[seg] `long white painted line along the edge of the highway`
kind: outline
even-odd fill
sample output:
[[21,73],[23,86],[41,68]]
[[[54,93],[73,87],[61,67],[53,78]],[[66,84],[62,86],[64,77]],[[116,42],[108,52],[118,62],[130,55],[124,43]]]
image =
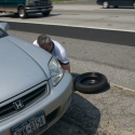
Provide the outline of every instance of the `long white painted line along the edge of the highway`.
[[[3,22],[14,22],[9,19],[2,19]],[[75,28],[92,28],[92,29],[100,29],[100,30],[112,30],[112,31],[126,31],[126,32],[135,32],[135,30],[124,30],[124,29],[114,29],[114,28],[100,28],[100,27],[89,27],[89,26],[76,26],[76,25],[64,25],[64,24],[50,24],[50,23],[37,23],[37,22],[22,22],[16,21],[14,23],[28,23],[28,24],[40,24],[40,25],[52,25],[52,26],[67,26],[67,27],[75,27]]]

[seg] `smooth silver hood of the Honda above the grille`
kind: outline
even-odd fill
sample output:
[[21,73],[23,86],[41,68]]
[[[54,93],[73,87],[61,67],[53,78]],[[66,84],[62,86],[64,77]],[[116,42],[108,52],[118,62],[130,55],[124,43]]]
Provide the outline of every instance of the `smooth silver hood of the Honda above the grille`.
[[51,57],[45,51],[17,38],[0,39],[0,103],[48,80]]

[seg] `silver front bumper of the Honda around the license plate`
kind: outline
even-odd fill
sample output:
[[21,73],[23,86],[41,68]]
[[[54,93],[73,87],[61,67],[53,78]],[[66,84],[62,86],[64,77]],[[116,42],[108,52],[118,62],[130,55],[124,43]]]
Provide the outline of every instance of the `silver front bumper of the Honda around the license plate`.
[[[65,72],[60,82],[51,90],[51,93],[46,98],[42,98],[40,102],[35,103],[32,106],[26,108],[16,116],[2,121],[0,124],[0,135],[12,135],[11,129],[14,125],[22,123],[31,116],[35,116],[37,112],[43,110],[48,127],[40,131],[41,134],[41,132],[48,130],[64,114],[70,105],[71,94],[72,77],[68,72]],[[54,114],[54,112],[55,116],[52,117],[53,119],[49,120],[49,116]]]

